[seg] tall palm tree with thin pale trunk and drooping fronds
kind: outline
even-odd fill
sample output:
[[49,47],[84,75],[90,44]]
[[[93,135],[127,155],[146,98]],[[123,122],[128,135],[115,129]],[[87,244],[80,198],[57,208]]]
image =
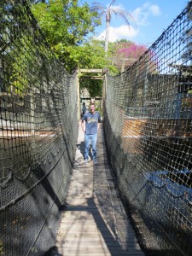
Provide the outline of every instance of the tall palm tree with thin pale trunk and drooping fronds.
[[125,23],[130,26],[130,20],[134,20],[131,14],[127,13],[123,9],[119,9],[113,6],[116,0],[113,0],[108,7],[102,5],[102,3],[93,3],[92,10],[98,12],[101,18],[104,16],[106,20],[106,34],[105,34],[105,53],[108,52],[108,41],[109,41],[109,26],[112,19],[112,15],[118,15],[120,18],[125,20]]

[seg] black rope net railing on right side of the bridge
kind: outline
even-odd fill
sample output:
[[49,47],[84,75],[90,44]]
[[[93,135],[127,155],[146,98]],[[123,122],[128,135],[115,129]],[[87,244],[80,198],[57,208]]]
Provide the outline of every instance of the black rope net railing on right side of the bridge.
[[105,79],[104,130],[147,255],[192,255],[191,2],[132,67]]

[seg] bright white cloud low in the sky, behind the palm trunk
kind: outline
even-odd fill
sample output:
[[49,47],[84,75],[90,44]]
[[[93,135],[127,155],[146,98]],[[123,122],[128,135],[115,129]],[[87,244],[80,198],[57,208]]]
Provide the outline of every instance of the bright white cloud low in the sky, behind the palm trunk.
[[[132,38],[137,37],[139,33],[138,29],[134,29],[132,26],[119,26],[119,27],[109,27],[109,41],[115,42],[119,39],[127,39],[131,40]],[[105,39],[105,31],[101,32],[101,34],[97,37],[97,39],[104,40]]]

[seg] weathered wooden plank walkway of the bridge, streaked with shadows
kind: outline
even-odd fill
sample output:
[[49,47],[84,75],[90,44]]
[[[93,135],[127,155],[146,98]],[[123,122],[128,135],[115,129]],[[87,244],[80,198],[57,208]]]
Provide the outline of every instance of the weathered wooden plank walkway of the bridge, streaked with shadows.
[[102,129],[98,164],[84,164],[84,133],[79,138],[73,176],[56,239],[55,256],[143,256],[113,183]]

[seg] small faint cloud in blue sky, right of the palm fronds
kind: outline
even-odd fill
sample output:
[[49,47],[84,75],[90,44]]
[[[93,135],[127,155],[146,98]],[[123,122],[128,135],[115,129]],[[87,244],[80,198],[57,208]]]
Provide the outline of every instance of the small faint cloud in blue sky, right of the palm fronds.
[[152,16],[159,16],[160,15],[160,8],[156,4],[151,3],[144,3],[142,7],[138,7],[135,9],[131,14],[137,23],[137,26],[147,26],[148,17]]

